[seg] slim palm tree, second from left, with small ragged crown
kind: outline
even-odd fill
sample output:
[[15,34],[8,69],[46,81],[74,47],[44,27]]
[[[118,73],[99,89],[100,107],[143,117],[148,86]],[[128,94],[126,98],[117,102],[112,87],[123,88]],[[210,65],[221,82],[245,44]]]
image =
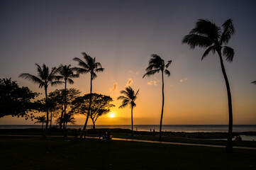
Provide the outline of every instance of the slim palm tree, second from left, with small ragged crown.
[[[66,116],[66,109],[67,109],[67,82],[69,84],[74,84],[74,81],[72,80],[72,78],[79,77],[79,74],[74,74],[73,71],[74,71],[74,68],[71,67],[71,64],[69,64],[68,66],[60,64],[60,67],[59,67],[60,77],[61,77],[61,79],[64,79],[64,83],[65,83],[64,117]],[[61,118],[63,118],[63,115],[61,116]],[[62,119],[60,119],[60,124],[62,124]],[[65,137],[67,137],[66,132],[65,132],[65,123],[63,123],[63,129],[64,129]]]

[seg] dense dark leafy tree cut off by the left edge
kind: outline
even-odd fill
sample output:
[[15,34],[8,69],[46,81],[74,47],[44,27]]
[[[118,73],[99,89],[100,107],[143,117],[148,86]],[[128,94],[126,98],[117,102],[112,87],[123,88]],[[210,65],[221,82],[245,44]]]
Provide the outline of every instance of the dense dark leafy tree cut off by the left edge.
[[[21,116],[33,119],[33,113],[28,114],[35,108],[31,102],[38,93],[33,93],[28,87],[19,87],[16,81],[0,79],[0,118],[6,115]],[[15,107],[13,107],[15,106]]]

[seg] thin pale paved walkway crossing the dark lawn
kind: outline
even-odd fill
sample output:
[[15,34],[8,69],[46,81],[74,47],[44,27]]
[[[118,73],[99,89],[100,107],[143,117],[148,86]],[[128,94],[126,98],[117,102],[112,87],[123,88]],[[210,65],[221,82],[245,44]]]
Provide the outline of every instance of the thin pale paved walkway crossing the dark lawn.
[[[0,135],[0,136],[13,136],[13,137],[41,137],[41,135]],[[48,137],[63,137],[63,136],[48,136]],[[74,137],[74,136],[68,136]],[[98,139],[99,137],[87,137],[89,139]],[[154,140],[133,140],[133,139],[123,139],[123,138],[115,138],[112,140],[119,141],[128,141],[128,142],[145,142],[145,143],[157,143],[157,144],[168,144],[168,145],[186,145],[186,146],[196,146],[196,147],[221,147],[225,148],[223,145],[207,145],[207,144],[192,144],[192,143],[181,143],[181,142],[163,142],[163,141],[154,141]],[[252,149],[256,150],[256,147],[233,147],[234,149]]]

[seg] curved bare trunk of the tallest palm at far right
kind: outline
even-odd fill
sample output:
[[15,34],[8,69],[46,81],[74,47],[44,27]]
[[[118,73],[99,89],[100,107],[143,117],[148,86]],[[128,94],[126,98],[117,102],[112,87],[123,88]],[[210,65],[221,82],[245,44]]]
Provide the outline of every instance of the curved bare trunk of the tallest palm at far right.
[[221,55],[221,51],[220,50],[218,50],[218,56],[220,57],[221,70],[222,70],[223,77],[224,77],[225,82],[226,82],[226,88],[227,88],[227,93],[228,93],[228,115],[229,115],[229,121],[228,121],[228,142],[227,142],[227,145],[226,145],[226,150],[227,151],[232,151],[232,149],[233,149],[233,147],[232,147],[233,111],[232,111],[231,92],[230,92],[230,86],[229,86],[229,82],[228,82],[228,77],[227,77],[226,70],[225,70],[225,67],[224,67],[224,64],[223,64],[223,59],[222,59],[222,55]]

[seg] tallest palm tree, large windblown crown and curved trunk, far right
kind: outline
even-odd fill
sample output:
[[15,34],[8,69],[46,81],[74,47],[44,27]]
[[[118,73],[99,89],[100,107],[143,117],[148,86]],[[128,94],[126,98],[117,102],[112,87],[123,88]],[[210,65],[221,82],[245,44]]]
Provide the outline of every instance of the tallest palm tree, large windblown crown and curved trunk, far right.
[[234,50],[231,47],[226,46],[228,41],[231,38],[231,35],[235,34],[235,28],[233,26],[232,19],[228,19],[221,27],[216,26],[215,23],[208,21],[206,19],[199,19],[196,22],[195,28],[193,28],[189,35],[184,36],[182,43],[188,44],[191,49],[199,46],[206,51],[204,52],[201,60],[208,55],[209,52],[218,53],[218,57],[221,62],[221,70],[223,77],[226,82],[226,89],[228,93],[228,115],[229,115],[229,124],[228,124],[228,142],[226,149],[228,151],[232,150],[232,128],[233,128],[233,112],[232,112],[232,101],[231,101],[231,92],[228,82],[228,77],[226,70],[223,64],[223,57],[226,57],[227,62],[232,62],[234,57]]

